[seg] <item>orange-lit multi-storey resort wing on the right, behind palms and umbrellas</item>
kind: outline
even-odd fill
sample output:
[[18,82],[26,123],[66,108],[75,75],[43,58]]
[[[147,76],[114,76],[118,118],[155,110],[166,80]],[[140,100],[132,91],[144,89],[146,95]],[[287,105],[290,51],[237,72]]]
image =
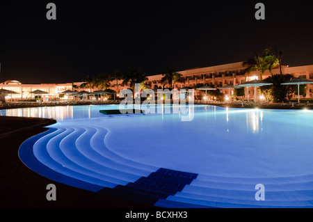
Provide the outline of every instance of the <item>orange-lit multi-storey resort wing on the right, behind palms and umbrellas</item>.
[[[183,82],[177,82],[174,84],[174,88],[183,88],[189,87],[194,88],[197,84],[204,84],[208,86],[214,86],[215,88],[225,86],[227,84],[231,85],[239,85],[243,84],[245,81],[250,81],[252,79],[261,79],[261,73],[258,71],[244,73],[242,62],[238,63],[229,63],[224,65],[215,65],[205,68],[193,68],[188,70],[180,71],[182,74]],[[279,74],[280,69],[274,68],[271,72],[264,72],[262,74],[262,79],[266,79],[271,76],[271,74]],[[313,65],[303,65],[296,67],[289,67],[288,65],[282,65],[282,74],[292,74],[294,77],[302,77],[303,79],[313,80]],[[150,81],[152,88],[163,88],[163,86],[168,87],[161,83],[163,75],[156,74],[152,76],[148,76],[147,78]],[[129,86],[122,86],[122,81],[118,82],[118,86],[114,86],[112,82],[111,89],[120,91],[124,88],[129,88]],[[234,89],[220,89],[223,90],[223,93],[228,94],[228,90],[230,90],[230,94],[232,95]],[[305,86],[305,97],[312,98],[313,86],[311,84],[307,84]],[[200,90],[195,90],[195,96],[200,98],[203,92]],[[253,98],[254,97],[254,89],[252,87],[245,88],[245,98]],[[296,97],[296,95],[294,95]],[[302,96],[301,96],[302,97]]]

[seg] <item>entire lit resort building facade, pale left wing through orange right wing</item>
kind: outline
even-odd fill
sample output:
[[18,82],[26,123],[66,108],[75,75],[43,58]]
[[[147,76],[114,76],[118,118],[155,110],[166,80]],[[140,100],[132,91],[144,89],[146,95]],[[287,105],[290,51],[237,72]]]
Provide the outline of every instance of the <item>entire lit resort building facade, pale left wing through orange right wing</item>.
[[[194,88],[197,84],[204,84],[208,86],[214,86],[215,88],[225,86],[227,84],[232,84],[234,86],[243,84],[245,81],[250,81],[252,79],[261,79],[260,72],[243,72],[245,68],[242,65],[242,62],[238,63],[229,63],[224,65],[215,65],[205,68],[193,68],[188,70],[179,71],[182,74],[182,82],[176,82],[174,84],[174,88],[178,89],[183,87]],[[280,69],[274,68],[271,72],[264,72],[262,74],[262,79],[266,79],[271,76],[271,74],[279,74]],[[294,77],[302,77],[304,79],[310,79],[313,81],[313,65],[303,65],[296,67],[289,67],[288,65],[282,65],[282,74],[292,74]],[[149,79],[149,84],[151,88],[165,88],[168,87],[166,84],[161,82],[163,75],[156,74],[147,76]],[[7,95],[8,100],[10,98],[12,100],[17,99],[29,99],[34,95],[31,93],[33,90],[43,90],[47,92],[45,97],[56,97],[60,93],[65,90],[74,90],[81,91],[86,90],[88,92],[93,92],[93,90],[99,90],[99,88],[83,88],[83,82],[74,82],[74,83],[66,83],[66,84],[22,84],[19,81],[9,80],[0,84],[0,88],[6,90],[12,90],[17,94]],[[115,90],[117,93],[120,90],[125,88],[129,88],[129,84],[122,84],[122,80],[111,81],[111,90]],[[232,95],[234,89],[220,89],[223,90],[225,95]],[[229,91],[230,90],[230,91]],[[244,98],[253,98],[254,97],[254,89],[252,87],[245,88],[245,96]],[[203,91],[195,90],[196,99],[200,99]],[[259,96],[259,95],[257,95]],[[305,86],[305,93],[301,97],[312,98],[313,96],[313,86],[312,84],[307,84]],[[65,99],[67,95],[65,95]],[[294,95],[296,97],[296,95]],[[45,100],[44,100],[45,101]]]

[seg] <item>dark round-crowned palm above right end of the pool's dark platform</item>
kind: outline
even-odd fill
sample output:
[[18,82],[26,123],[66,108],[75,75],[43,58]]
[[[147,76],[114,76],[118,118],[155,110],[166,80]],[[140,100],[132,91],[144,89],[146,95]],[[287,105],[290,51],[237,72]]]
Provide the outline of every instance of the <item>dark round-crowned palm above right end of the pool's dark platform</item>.
[[133,88],[133,92],[135,92],[135,84],[141,84],[149,80],[141,68],[133,68],[131,66],[122,74],[122,79],[124,79],[122,84],[129,83],[130,87]]

